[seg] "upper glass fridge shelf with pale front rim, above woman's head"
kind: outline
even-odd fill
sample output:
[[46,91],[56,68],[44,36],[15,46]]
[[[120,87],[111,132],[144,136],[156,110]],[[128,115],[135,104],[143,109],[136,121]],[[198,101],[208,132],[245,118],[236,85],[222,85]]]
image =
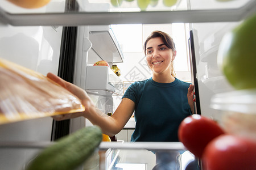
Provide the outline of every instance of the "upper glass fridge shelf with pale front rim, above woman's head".
[[52,0],[38,9],[24,9],[6,0],[1,0],[0,22],[11,25],[109,25],[109,24],[160,24],[160,23],[203,23],[237,22],[256,12],[254,0],[218,2],[211,0],[180,0],[166,7],[148,5],[142,11],[137,0],[123,3],[119,7],[110,0],[77,0],[78,11],[65,12],[64,0]]

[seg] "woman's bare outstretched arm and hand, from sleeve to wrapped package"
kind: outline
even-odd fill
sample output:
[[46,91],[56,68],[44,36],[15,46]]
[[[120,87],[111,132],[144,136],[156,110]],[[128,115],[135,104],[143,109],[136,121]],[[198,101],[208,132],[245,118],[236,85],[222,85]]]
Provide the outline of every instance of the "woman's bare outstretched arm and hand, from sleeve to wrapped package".
[[76,86],[75,84],[66,82],[59,76],[56,76],[52,73],[48,73],[47,77],[60,84],[60,86],[66,88],[73,95],[79,97],[82,105],[85,107],[84,112],[54,116],[53,118],[55,120],[65,120],[69,118],[84,116],[85,118],[88,118],[92,124],[100,126],[102,133],[113,136],[122,130],[123,126],[125,126],[133,114],[135,103],[130,99],[123,98],[118,108],[115,110],[113,116],[107,116],[95,107],[88,94],[80,87]]

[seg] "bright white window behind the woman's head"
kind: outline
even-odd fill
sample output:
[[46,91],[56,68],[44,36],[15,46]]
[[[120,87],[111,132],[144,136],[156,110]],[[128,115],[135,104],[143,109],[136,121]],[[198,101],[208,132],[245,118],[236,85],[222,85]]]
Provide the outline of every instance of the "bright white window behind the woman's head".
[[147,36],[155,30],[164,31],[174,39],[177,50],[177,56],[174,61],[177,78],[191,82],[187,52],[187,24],[120,24],[111,25],[111,28],[125,57],[123,63],[117,63],[122,73],[120,78],[123,82],[144,80],[152,76],[144,57],[143,43]]

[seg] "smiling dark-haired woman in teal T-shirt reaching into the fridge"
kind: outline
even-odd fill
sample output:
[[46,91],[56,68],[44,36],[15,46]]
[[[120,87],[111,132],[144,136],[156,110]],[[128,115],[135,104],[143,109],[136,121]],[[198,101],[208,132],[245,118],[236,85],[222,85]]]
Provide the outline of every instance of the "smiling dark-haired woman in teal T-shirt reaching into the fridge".
[[112,116],[102,116],[104,113],[81,88],[57,76],[49,78],[79,96],[86,108],[81,115],[100,126],[106,135],[119,133],[134,113],[136,124],[132,142],[179,142],[177,129],[180,122],[194,110],[193,86],[172,74],[176,50],[170,35],[162,31],[152,32],[144,49],[144,54],[152,53],[152,57],[146,57],[152,77],[131,84]]

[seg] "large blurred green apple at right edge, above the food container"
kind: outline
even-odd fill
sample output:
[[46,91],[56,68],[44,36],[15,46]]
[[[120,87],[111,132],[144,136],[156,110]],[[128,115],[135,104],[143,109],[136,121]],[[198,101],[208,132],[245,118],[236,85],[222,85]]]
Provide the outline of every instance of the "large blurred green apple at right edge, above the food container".
[[255,14],[226,33],[218,49],[217,62],[234,88],[256,88]]

